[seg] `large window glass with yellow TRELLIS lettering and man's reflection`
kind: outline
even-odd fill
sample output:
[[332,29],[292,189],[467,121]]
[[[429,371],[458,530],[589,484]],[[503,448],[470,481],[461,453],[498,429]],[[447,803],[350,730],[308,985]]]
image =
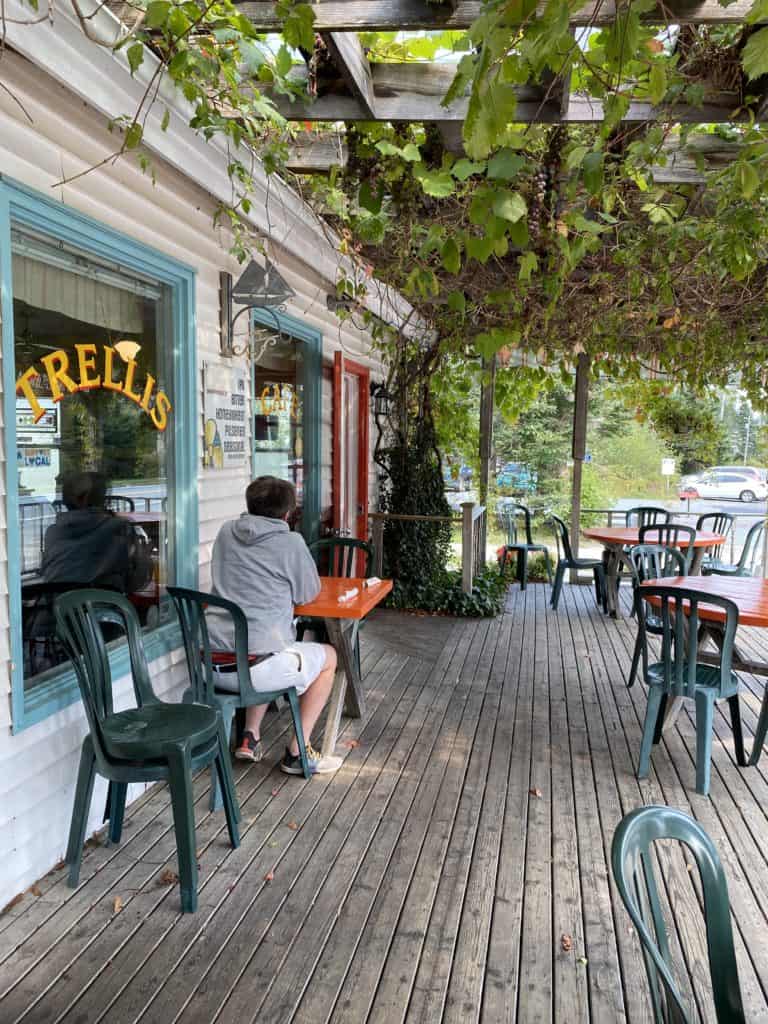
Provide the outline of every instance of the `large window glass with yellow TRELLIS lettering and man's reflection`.
[[55,596],[128,596],[166,617],[174,417],[170,290],[11,228],[24,687],[65,654]]

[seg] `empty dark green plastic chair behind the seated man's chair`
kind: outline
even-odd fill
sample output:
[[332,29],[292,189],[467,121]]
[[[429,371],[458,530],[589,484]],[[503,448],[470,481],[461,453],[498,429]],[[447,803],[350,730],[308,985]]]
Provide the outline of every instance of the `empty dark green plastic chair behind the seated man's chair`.
[[[193,772],[213,765],[224,797],[232,847],[240,846],[240,810],[234,793],[221,714],[202,703],[166,703],[152,688],[138,615],[127,598],[103,590],[76,590],[56,598],[58,635],[72,658],[89,733],[80,755],[75,806],[66,862],[75,888],[88,820],[93,782],[98,772],[110,780],[110,840],[119,843],[129,782],[168,782],[176,830],[181,910],[198,907],[198,863],[195,846]],[[122,622],[128,640],[136,708],[116,712],[112,671],[101,621]]]

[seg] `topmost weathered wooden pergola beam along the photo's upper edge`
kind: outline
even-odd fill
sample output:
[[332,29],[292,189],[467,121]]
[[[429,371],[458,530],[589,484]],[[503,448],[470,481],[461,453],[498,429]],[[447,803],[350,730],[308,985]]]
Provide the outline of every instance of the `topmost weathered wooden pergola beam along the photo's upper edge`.
[[[262,32],[280,31],[274,4],[245,0],[238,4]],[[543,7],[544,4],[542,3]],[[751,0],[735,0],[723,7],[719,0],[689,3],[670,0],[641,14],[651,25],[733,25],[744,20]],[[319,0],[312,5],[316,32],[397,32],[418,29],[466,29],[481,12],[480,0],[435,4],[428,0]],[[570,15],[573,27],[607,25],[615,20],[615,0],[585,4]]]

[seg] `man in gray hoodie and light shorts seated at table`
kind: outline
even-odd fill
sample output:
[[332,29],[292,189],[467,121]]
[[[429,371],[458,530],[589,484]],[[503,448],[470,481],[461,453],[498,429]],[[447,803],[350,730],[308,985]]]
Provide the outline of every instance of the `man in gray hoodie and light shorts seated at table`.
[[[259,476],[246,488],[246,507],[248,511],[239,519],[223,524],[213,545],[211,591],[239,604],[245,612],[248,649],[258,657],[251,667],[254,689],[295,686],[310,769],[336,771],[341,759],[322,757],[309,741],[331,693],[336,651],[329,644],[296,640],[294,605],[311,601],[319,593],[317,569],[304,538],[288,525],[296,508],[296,490],[287,480]],[[206,620],[213,649],[231,651],[231,617],[209,608]],[[234,674],[219,670],[216,686],[237,692]],[[265,712],[266,705],[246,709],[245,731],[236,758],[261,760],[260,728]],[[298,751],[294,736],[281,762],[281,769],[289,775],[301,774]]]

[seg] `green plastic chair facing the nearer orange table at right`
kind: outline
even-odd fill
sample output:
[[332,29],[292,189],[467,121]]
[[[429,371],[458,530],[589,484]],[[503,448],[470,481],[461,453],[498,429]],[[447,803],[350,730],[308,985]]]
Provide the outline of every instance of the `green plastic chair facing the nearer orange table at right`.
[[[662,630],[662,660],[652,665],[648,664],[646,627],[646,602],[651,597],[660,600],[660,610],[656,611],[656,614]],[[688,605],[685,610],[683,601]],[[725,614],[718,666],[700,665],[695,660],[699,603],[721,608]],[[738,676],[731,669],[738,608],[733,601],[706,591],[665,587],[659,584],[652,587],[638,587],[635,591],[635,609],[643,680],[648,687],[648,706],[640,744],[638,778],[648,776],[651,744],[657,743],[662,738],[662,724],[668,699],[678,696],[691,697],[696,705],[696,793],[706,797],[710,792],[712,723],[716,700],[728,701],[736,761],[741,766],[746,764],[738,705]],[[693,657],[689,657],[686,650],[687,636],[691,637]]]

